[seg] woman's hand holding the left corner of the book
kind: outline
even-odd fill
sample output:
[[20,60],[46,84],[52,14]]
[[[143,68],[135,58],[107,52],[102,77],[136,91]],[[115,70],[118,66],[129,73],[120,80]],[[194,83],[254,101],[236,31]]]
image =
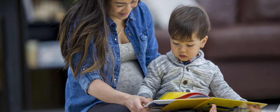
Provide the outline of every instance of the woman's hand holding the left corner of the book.
[[125,100],[125,106],[131,112],[150,112],[151,108],[144,108],[143,105],[150,103],[148,99],[143,96],[128,95]]

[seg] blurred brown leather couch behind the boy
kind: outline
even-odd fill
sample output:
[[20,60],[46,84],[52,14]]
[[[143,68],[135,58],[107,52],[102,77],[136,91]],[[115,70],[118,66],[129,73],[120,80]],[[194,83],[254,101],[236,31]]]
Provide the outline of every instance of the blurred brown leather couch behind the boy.
[[[249,101],[280,99],[280,1],[197,0],[210,18],[202,49],[225,81]],[[158,51],[171,50],[167,30],[155,28]],[[211,96],[211,94],[210,94]],[[269,103],[269,102],[263,102]]]

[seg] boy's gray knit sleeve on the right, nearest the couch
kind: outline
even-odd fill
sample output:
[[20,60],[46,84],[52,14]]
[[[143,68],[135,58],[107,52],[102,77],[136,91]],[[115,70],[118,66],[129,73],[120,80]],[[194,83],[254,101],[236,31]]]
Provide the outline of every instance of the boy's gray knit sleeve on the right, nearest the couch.
[[216,97],[247,101],[246,99],[241,98],[232,88],[229,87],[227,82],[224,80],[220,69],[216,72],[216,74],[214,74],[209,87]]

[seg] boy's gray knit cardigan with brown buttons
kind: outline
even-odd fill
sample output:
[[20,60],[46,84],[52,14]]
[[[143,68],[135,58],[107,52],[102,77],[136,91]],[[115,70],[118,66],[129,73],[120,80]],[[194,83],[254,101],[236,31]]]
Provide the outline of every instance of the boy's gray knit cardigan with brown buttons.
[[186,66],[178,61],[172,51],[153,60],[137,95],[158,99],[168,91],[206,95],[212,91],[216,97],[247,101],[228,86],[218,66],[206,60],[201,50],[199,53],[200,57]]

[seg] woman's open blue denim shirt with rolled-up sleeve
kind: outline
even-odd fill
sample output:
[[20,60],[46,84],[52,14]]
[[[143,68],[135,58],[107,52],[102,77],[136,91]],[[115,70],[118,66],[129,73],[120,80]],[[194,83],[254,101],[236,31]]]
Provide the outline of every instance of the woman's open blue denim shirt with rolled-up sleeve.
[[[107,15],[108,16],[108,15]],[[125,19],[126,28],[125,33],[129,38],[134,51],[136,53],[138,62],[142,68],[144,75],[148,74],[147,66],[151,61],[160,56],[158,53],[158,43],[155,38],[154,24],[151,13],[143,2],[140,2],[136,8],[134,8],[129,14],[128,18]],[[118,34],[116,31],[116,23],[109,19],[108,23],[109,29],[111,29],[111,34],[109,35],[109,51],[113,52],[114,55],[114,77],[111,77],[109,69],[112,69],[112,65],[110,62],[105,63],[108,64],[108,67],[105,65],[105,72],[110,84],[114,89],[116,89],[118,84],[118,78],[120,73],[120,48],[118,44]],[[94,42],[89,46],[87,59],[83,66],[79,69],[78,74],[83,70],[89,68],[93,65],[94,61],[92,60],[92,54],[94,49]],[[79,60],[81,58],[80,53],[75,53],[73,56],[74,68],[78,65]],[[111,60],[111,57],[107,57],[107,59]],[[90,62],[90,63],[89,63]],[[106,71],[107,70],[107,71]],[[66,90],[65,90],[65,111],[88,111],[92,106],[103,103],[99,99],[95,98],[92,95],[87,94],[87,89],[89,84],[94,79],[101,79],[99,76],[99,70],[92,71],[89,73],[85,73],[82,76],[78,76],[77,79],[74,79],[73,73],[71,69],[68,69],[68,78],[66,81]],[[114,80],[116,84],[114,83]]]

